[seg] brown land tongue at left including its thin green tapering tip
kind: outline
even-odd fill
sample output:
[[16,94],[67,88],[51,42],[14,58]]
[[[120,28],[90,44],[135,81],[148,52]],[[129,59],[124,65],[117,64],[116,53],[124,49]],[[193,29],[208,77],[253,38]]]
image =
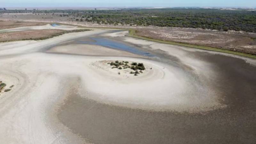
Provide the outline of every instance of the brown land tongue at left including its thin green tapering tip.
[[90,31],[90,29],[77,29],[77,30],[32,30],[32,31],[20,31],[9,32],[0,34],[0,42],[11,42],[20,40],[45,40],[55,36],[60,36],[68,33]]

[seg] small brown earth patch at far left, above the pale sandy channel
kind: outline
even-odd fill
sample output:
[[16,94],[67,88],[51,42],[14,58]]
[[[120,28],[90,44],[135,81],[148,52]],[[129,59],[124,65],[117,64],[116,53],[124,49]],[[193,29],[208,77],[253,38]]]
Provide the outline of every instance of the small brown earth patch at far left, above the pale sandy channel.
[[0,21],[0,29],[8,29],[15,27],[42,26],[44,22],[24,22],[24,21]]

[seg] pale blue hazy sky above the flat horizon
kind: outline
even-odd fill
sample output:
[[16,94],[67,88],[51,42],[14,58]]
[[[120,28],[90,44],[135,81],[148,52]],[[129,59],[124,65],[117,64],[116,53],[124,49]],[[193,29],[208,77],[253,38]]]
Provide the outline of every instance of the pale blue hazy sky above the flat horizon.
[[1,7],[256,7],[256,0],[0,0]]

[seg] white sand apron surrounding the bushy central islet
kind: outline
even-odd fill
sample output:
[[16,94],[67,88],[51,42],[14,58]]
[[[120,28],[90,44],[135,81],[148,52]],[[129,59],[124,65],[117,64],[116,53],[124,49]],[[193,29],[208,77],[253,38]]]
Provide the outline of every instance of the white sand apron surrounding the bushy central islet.
[[211,90],[197,87],[195,81],[194,86],[202,89],[194,93],[195,87],[189,84],[188,77],[175,67],[144,59],[117,60],[142,62],[147,68],[152,67],[152,70],[135,77],[127,73],[118,75],[116,70],[94,66],[92,70],[87,70],[94,76],[84,78],[84,87],[87,92],[97,94],[98,97],[90,94],[87,97],[110,104],[154,110],[200,111],[222,107],[217,95],[209,95]]

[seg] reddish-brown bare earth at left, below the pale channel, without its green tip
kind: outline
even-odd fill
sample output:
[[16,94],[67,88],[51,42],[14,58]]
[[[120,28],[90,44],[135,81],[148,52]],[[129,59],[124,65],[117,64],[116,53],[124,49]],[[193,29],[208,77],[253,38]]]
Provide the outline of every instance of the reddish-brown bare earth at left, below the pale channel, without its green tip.
[[10,32],[10,33],[0,33],[0,42],[17,41],[17,40],[29,40],[29,39],[44,39],[47,37],[52,37],[56,34],[62,33],[64,30],[31,30],[31,31],[20,31],[20,32]]

